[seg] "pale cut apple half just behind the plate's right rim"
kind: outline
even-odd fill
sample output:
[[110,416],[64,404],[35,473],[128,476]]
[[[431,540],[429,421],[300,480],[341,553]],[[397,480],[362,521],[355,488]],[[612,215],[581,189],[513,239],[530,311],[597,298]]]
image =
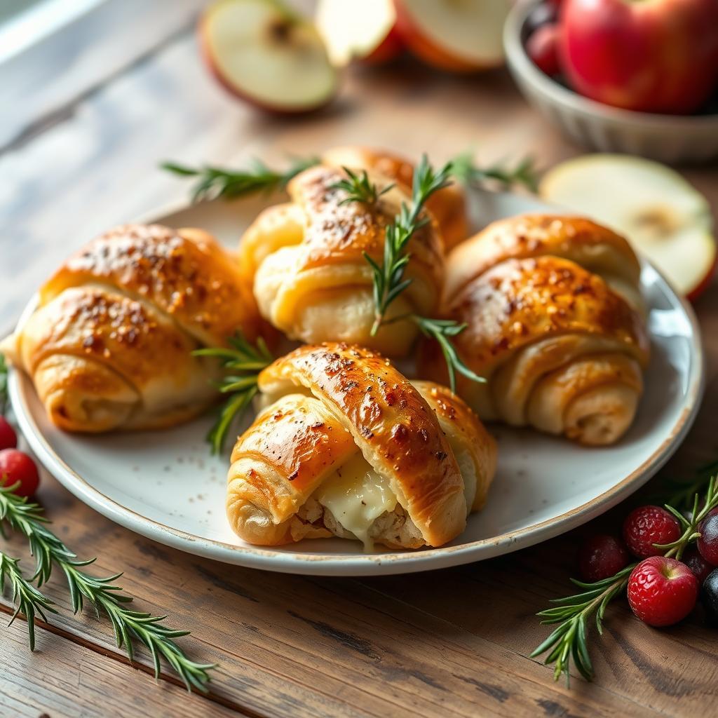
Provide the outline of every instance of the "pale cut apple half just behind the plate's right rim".
[[556,165],[539,192],[623,234],[691,301],[710,284],[717,253],[708,202],[663,164],[587,154]]

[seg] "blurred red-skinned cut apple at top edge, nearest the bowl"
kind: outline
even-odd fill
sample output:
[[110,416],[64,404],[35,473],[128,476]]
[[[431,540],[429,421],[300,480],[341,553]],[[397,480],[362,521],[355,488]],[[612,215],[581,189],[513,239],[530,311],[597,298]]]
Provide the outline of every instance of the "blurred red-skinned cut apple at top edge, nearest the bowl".
[[509,0],[394,0],[394,5],[401,39],[427,64],[460,73],[503,64]]

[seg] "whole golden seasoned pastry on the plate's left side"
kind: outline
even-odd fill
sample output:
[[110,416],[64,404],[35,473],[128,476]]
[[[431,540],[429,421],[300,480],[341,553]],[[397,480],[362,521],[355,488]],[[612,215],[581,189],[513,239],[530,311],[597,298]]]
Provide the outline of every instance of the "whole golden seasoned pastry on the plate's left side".
[[236,261],[198,229],[124,225],[85,246],[40,289],[0,350],[34,382],[61,429],[149,429],[217,397],[216,360],[193,357],[258,332]]

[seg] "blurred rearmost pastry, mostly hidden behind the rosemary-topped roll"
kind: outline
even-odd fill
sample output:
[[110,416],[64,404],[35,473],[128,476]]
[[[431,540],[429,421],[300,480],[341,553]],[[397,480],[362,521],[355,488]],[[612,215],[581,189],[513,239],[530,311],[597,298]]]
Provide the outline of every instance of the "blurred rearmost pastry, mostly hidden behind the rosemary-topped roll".
[[[322,154],[322,162],[335,167],[366,169],[389,177],[398,182],[411,194],[414,180],[414,164],[404,157],[385,150],[369,149],[355,145],[333,147]],[[444,239],[444,247],[449,250],[469,236],[469,219],[466,212],[466,197],[457,182],[429,197],[426,208],[437,220]]]

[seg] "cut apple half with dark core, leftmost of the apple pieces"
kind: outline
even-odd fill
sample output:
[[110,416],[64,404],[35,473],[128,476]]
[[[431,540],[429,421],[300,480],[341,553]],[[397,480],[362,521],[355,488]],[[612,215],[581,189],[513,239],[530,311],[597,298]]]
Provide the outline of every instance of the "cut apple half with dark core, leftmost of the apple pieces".
[[307,112],[337,91],[337,70],[314,25],[277,0],[219,0],[199,32],[225,88],[265,110]]

